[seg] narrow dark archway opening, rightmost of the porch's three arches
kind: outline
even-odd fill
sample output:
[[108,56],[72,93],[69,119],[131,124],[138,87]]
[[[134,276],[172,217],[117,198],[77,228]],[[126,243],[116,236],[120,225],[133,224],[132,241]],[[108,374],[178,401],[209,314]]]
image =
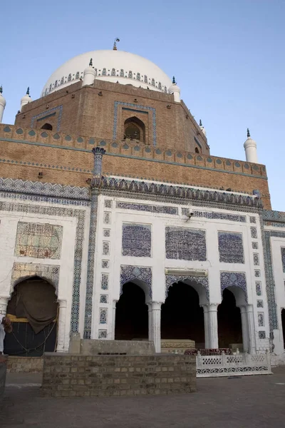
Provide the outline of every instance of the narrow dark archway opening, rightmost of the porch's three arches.
[[242,344],[242,318],[236,304],[234,292],[226,288],[222,294],[222,303],[218,307],[219,347],[230,344]]

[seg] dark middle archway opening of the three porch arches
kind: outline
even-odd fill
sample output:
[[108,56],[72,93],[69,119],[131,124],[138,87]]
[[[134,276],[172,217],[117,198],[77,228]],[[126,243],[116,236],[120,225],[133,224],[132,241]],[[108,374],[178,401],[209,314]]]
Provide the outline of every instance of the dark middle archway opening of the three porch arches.
[[176,282],[169,288],[161,308],[161,337],[195,340],[196,347],[204,347],[204,312],[191,285]]

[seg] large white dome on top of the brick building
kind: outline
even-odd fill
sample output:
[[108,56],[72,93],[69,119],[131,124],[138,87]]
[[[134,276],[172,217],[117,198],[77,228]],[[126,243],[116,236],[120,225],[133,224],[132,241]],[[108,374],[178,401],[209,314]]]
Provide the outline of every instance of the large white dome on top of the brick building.
[[41,96],[65,88],[80,78],[93,59],[98,80],[105,80],[123,85],[141,86],[152,91],[168,92],[171,79],[148,59],[124,51],[90,51],[75,56],[60,66],[48,79]]

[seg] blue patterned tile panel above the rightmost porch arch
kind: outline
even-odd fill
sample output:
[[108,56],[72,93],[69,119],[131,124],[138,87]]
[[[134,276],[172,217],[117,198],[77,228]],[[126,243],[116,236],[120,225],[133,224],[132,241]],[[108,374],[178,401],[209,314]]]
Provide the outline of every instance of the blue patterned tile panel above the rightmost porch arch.
[[221,263],[244,263],[242,233],[218,232],[218,240]]

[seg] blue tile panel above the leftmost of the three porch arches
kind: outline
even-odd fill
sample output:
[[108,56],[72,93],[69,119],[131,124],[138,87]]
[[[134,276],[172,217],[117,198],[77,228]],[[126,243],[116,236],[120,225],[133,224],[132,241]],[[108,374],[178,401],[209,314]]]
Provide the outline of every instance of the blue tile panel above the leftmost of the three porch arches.
[[151,257],[151,225],[123,223],[122,255]]

